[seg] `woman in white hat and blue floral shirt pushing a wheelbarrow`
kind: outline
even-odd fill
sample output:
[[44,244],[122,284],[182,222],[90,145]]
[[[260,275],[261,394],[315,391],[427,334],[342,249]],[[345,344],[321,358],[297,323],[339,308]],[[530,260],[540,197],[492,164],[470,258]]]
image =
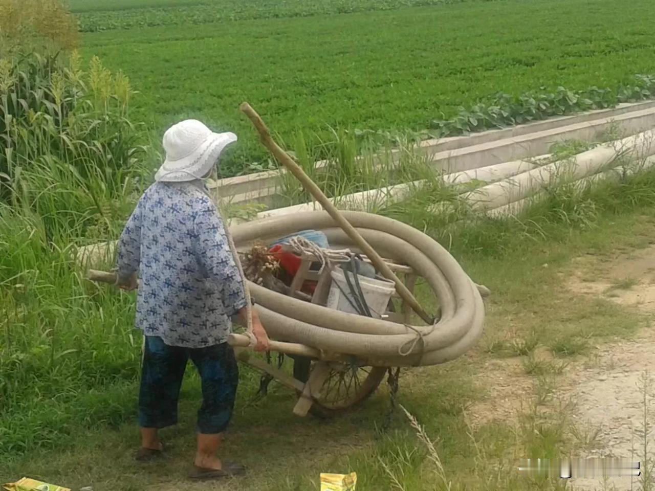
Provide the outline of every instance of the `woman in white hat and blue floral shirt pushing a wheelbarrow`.
[[[217,134],[196,120],[164,134],[166,160],[122,232],[118,285],[136,288],[136,326],[145,348],[139,392],[141,448],[138,460],[160,456],[159,428],[176,424],[178,397],[189,358],[202,380],[197,450],[191,477],[241,473],[241,465],[216,456],[231,420],[238,369],[227,344],[231,317],[246,319],[244,284],[234,263],[223,221],[208,196],[209,177],[233,133]],[[252,310],[257,350],[269,339]]]

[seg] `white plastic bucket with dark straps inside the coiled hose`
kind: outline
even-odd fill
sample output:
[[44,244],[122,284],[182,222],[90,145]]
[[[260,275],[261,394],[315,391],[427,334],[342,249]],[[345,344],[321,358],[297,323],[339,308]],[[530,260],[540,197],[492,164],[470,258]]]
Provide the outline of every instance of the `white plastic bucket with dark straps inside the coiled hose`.
[[[359,312],[357,312],[357,310],[355,310],[355,308],[350,304],[350,302],[352,302],[354,305],[357,305],[352,293],[350,292],[350,287],[348,287],[344,273],[345,272],[341,268],[337,268],[331,272],[332,284],[329,289],[329,295],[327,296],[326,306],[335,310],[341,310],[341,312],[359,314]],[[347,274],[350,284],[354,286],[354,275],[352,272],[348,272]],[[360,287],[362,288],[366,304],[371,311],[371,316],[377,319],[381,318],[389,304],[391,294],[396,291],[396,285],[394,282],[388,280],[374,280],[373,278],[366,278],[359,274],[357,275],[357,278],[360,282]],[[337,284],[341,286],[341,289],[339,289]],[[343,290],[343,292],[341,290]],[[344,293],[347,295],[347,298]],[[350,302],[348,299],[350,299]]]

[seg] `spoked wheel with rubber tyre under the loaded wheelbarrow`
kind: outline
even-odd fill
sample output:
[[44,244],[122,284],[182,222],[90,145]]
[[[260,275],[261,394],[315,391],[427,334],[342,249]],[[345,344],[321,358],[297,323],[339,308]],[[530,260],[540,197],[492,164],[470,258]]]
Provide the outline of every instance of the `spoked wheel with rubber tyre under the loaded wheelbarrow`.
[[[309,358],[295,358],[293,378],[307,382],[311,367],[312,361]],[[371,397],[384,380],[386,370],[385,367],[346,367],[343,371],[333,369],[324,384],[327,393],[318,401],[314,401],[309,412],[318,418],[330,418],[356,407]],[[348,377],[346,371],[350,371],[352,376]],[[348,378],[347,382],[345,378]],[[341,394],[343,397],[339,397]]]

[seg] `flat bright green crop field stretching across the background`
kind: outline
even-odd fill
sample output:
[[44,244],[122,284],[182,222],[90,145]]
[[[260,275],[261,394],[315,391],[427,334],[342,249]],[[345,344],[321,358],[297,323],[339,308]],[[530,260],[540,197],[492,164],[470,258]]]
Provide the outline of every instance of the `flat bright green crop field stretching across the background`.
[[[105,13],[90,15],[102,23]],[[237,111],[242,101],[288,139],[300,129],[329,137],[329,127],[424,130],[498,91],[616,92],[655,72],[652,18],[652,0],[473,1],[202,25],[170,12],[162,24],[172,25],[87,33],[83,51],[126,72],[140,91],[132,115],[157,136],[186,117],[234,130],[240,143],[225,168],[234,173],[265,156]]]

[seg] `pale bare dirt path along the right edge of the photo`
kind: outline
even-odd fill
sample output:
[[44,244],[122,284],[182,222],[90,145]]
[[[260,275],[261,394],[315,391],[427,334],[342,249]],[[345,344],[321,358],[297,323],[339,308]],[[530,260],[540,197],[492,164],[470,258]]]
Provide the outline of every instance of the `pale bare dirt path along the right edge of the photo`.
[[[608,263],[595,264],[588,258],[578,263],[580,273],[569,282],[574,293],[604,297],[637,308],[646,316],[655,314],[655,247],[621,255]],[[596,278],[589,278],[590,272]],[[590,367],[567,374],[569,391],[577,402],[576,420],[593,436],[590,456],[643,462],[639,430],[645,422],[655,424],[652,382],[646,384],[645,393],[643,377],[654,368],[655,333],[646,324],[635,340],[602,346]],[[645,409],[650,414],[645,415]],[[655,450],[655,435],[650,435],[648,443],[650,452]],[[637,487],[630,477],[612,477],[605,483],[574,479],[571,484],[584,490]]]

